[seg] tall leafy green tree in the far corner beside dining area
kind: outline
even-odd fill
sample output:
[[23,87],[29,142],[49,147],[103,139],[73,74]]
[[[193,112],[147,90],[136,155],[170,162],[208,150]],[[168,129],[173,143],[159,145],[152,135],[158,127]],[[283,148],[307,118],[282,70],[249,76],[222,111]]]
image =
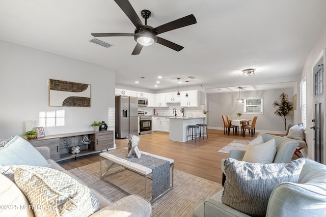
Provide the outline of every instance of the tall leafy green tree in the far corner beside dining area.
[[289,101],[289,97],[285,92],[280,94],[279,100],[275,100],[273,103],[274,108],[277,108],[274,114],[280,116],[284,122],[286,131],[286,117],[293,110],[293,103]]

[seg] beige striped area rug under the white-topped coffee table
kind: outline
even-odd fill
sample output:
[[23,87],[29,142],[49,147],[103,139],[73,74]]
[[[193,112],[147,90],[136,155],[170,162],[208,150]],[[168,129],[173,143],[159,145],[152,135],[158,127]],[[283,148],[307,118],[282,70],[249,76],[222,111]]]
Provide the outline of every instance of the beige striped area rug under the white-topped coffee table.
[[[95,189],[112,202],[126,196],[126,194],[120,190],[100,179],[99,162],[69,171],[80,180],[84,181],[90,188]],[[125,171],[120,172],[117,176],[117,179],[120,179],[116,180],[119,182],[119,187],[128,192],[134,192],[133,194],[139,191],[139,195],[143,196],[144,177],[131,171],[126,170],[128,175],[123,174],[124,172]],[[191,216],[193,209],[199,203],[211,197],[222,188],[222,185],[219,183],[179,170],[174,170],[173,180],[173,189],[166,195],[152,202],[152,216]],[[112,180],[110,179],[110,181]]]

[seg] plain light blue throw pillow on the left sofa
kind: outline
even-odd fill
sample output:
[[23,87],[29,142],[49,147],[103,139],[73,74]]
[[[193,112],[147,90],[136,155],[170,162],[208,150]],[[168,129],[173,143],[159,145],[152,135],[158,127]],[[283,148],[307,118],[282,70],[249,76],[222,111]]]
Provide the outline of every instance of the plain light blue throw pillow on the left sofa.
[[42,154],[20,136],[15,136],[0,148],[0,165],[50,166]]

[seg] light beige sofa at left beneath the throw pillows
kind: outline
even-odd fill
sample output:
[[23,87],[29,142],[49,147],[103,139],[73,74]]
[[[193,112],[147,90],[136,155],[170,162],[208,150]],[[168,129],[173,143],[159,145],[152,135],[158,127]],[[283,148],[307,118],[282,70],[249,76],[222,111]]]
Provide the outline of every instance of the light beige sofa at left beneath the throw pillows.
[[[64,172],[73,177],[80,183],[79,180],[69,171],[65,170],[55,161],[50,159],[50,149],[48,147],[36,147],[41,155],[46,159],[46,162],[50,165],[50,168]],[[1,148],[0,148],[1,151]],[[23,150],[21,150],[23,151]],[[1,166],[1,165],[0,165]],[[1,168],[1,167],[0,167]],[[0,204],[4,205],[0,209],[0,216],[34,216],[34,212],[27,197],[20,191],[20,189],[5,175],[0,174]],[[83,183],[86,185],[85,183]],[[96,197],[100,209],[91,216],[151,216],[152,206],[142,197],[137,195],[126,196],[116,202],[111,202],[94,189],[90,189],[92,194]],[[9,197],[9,198],[8,198]],[[12,197],[12,198],[11,198]],[[21,205],[25,208],[22,208]]]

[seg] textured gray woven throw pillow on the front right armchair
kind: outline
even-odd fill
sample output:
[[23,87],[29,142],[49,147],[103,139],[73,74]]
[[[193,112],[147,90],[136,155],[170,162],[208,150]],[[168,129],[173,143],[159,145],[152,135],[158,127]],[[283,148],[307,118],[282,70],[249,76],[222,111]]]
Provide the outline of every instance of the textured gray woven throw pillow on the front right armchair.
[[251,216],[265,216],[269,196],[282,182],[298,182],[305,159],[287,164],[258,164],[228,158],[222,202]]

